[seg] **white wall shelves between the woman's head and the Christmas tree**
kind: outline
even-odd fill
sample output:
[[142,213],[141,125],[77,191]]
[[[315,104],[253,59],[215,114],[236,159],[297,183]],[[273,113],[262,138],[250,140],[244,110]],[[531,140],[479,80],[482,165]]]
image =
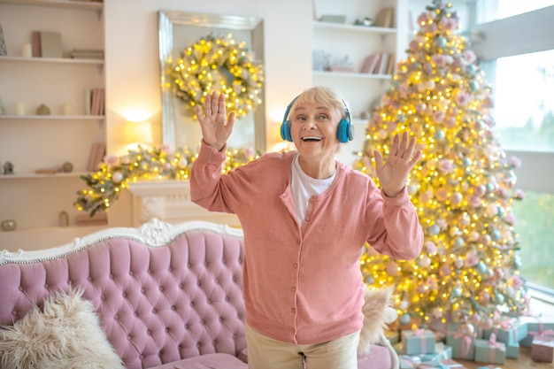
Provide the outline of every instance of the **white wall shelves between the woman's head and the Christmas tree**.
[[[336,88],[350,104],[350,115],[356,135],[339,155],[342,161],[350,165],[355,160],[353,151],[362,149],[365,139],[367,118],[375,104],[389,88],[391,74],[361,73],[365,58],[376,53],[395,56],[396,62],[404,56],[408,28],[407,0],[352,0],[336,2],[334,0],[314,0],[314,13],[317,19],[312,27],[312,50],[322,50],[326,61],[336,64],[348,60],[351,72],[331,72],[314,70],[312,84],[327,85]],[[386,7],[392,7],[392,27],[358,26],[357,19],[375,19]],[[344,23],[324,22],[324,15],[340,15]],[[317,63],[314,63],[314,65]]]

